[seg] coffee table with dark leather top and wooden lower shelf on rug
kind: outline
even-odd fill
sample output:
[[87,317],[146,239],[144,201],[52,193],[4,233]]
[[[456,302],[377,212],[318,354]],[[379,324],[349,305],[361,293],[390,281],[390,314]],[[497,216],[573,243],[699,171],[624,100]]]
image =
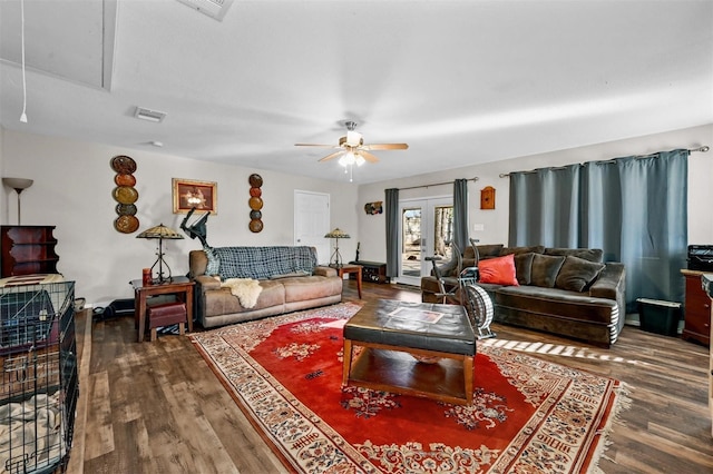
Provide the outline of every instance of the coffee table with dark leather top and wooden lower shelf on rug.
[[[352,364],[353,346],[363,350]],[[470,404],[475,355],[462,306],[382,299],[344,325],[342,385]]]

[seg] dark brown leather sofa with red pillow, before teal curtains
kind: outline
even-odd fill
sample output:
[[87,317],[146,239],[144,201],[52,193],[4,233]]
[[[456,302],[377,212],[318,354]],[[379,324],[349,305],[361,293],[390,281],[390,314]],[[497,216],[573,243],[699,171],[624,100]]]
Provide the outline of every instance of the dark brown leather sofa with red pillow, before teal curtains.
[[[544,330],[593,345],[609,347],[624,327],[625,269],[621,263],[602,264],[600,249],[569,249],[479,245],[480,261],[514,254],[518,285],[478,283],[495,307],[494,320]],[[476,264],[473,248],[462,255],[461,268]],[[458,260],[439,266],[447,290],[458,285]],[[596,271],[593,271],[596,270]],[[582,288],[592,274],[596,274]],[[549,274],[549,275],[548,275]],[[586,277],[584,275],[586,274]],[[585,279],[583,279],[583,277]],[[440,303],[434,276],[421,278],[421,300]]]

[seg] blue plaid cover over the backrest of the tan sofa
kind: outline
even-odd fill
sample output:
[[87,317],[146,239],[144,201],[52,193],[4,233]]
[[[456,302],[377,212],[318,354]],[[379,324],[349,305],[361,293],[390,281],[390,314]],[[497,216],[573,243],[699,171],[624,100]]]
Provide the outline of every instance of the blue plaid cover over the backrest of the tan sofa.
[[316,256],[306,246],[217,247],[221,278],[267,279],[272,275],[307,271],[316,265]]

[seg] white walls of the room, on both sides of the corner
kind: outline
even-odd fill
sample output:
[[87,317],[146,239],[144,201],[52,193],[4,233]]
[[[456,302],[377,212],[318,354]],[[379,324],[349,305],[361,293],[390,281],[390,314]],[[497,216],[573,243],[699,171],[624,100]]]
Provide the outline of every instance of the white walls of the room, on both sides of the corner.
[[[343,181],[324,181],[208,164],[153,151],[133,151],[117,147],[0,129],[0,170],[2,176],[35,179],[22,194],[22,224],[55,225],[59,241],[59,270],[77,282],[77,296],[88,304],[106,304],[131,297],[130,279],[140,278],[141,268],[155,260],[155,240],[137,239],[135,234],[114,229],[116,201],[111,197],[115,172],[109,160],[128,155],[138,165],[135,172],[139,192],[136,203],[139,231],[159,223],[178,229],[183,215],[173,214],[172,178],[216,181],[218,215],[208,218],[208,243],[224,245],[292,245],[294,189],[326,192],[331,199],[331,227],[340,227],[352,238],[340,241],[345,260],[351,260],[356,243],[360,258],[385,261],[384,215],[367,215],[367,203],[384,200],[384,189],[479,177],[468,187],[470,235],[481,243],[507,243],[508,179],[499,174],[559,166],[628,155],[642,155],[674,148],[713,146],[713,125],[592,145],[570,150],[508,159],[499,162],[445,170],[424,176],[364,185],[359,188]],[[507,144],[504,145],[507,147]],[[477,146],[465,149],[477,154]],[[434,157],[436,159],[437,157]],[[264,230],[248,230],[247,177],[263,177]],[[688,159],[688,239],[691,244],[713,244],[713,151],[692,154]],[[496,188],[496,209],[480,209],[480,190]],[[402,198],[452,194],[452,184],[401,191]],[[2,187],[0,223],[17,224],[17,196]],[[475,231],[473,224],[485,230]],[[166,241],[166,260],[174,275],[187,271],[187,253],[199,248],[197,240]]]

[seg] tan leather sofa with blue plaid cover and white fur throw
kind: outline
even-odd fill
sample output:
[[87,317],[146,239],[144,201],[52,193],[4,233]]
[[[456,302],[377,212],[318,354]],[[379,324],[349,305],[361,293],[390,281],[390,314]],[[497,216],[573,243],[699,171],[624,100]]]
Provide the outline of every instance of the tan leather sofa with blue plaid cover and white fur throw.
[[[300,251],[299,258],[295,251]],[[188,276],[196,284],[194,313],[203,327],[275,316],[342,300],[342,279],[334,268],[316,265],[316,250],[313,247],[192,250],[188,263]],[[229,287],[221,286],[226,278],[256,279],[262,287],[256,304],[250,308],[241,305]]]

